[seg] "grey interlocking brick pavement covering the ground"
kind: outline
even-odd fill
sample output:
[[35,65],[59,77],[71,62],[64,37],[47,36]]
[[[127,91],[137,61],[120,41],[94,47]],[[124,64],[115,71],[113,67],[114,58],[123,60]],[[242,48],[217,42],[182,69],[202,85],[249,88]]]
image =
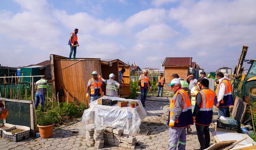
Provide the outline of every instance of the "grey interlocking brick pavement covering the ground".
[[[151,96],[146,101],[145,110],[147,117],[140,125],[140,133],[136,135],[136,139],[140,146],[136,146],[137,150],[166,150],[168,143],[168,126],[166,120],[168,117],[168,97],[156,98]],[[217,111],[214,108],[214,122],[217,119]],[[80,129],[80,122],[66,126],[60,130],[56,130],[53,136],[48,139],[37,138],[35,140],[29,138],[21,142],[10,142],[6,139],[0,139],[1,150],[96,150],[94,147],[86,145],[85,131]],[[195,126],[191,126],[192,133],[186,134],[186,150],[194,150],[199,148],[199,142],[196,135]],[[79,130],[79,133],[73,133]],[[150,130],[149,136],[145,135]],[[210,131],[214,131],[214,124],[210,125]],[[211,134],[210,134],[211,135]],[[211,135],[211,143],[213,137]],[[105,145],[103,150],[131,150],[129,148],[121,148],[116,146]]]

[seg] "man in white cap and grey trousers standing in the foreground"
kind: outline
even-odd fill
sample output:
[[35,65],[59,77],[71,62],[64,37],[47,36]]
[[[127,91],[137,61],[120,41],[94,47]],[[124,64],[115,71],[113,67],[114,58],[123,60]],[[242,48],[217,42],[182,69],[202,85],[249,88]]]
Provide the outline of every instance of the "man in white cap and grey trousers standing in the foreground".
[[186,127],[193,125],[193,116],[188,94],[181,88],[180,80],[172,79],[171,89],[174,96],[170,101],[169,117],[167,126],[169,129],[169,150],[185,150],[186,148]]

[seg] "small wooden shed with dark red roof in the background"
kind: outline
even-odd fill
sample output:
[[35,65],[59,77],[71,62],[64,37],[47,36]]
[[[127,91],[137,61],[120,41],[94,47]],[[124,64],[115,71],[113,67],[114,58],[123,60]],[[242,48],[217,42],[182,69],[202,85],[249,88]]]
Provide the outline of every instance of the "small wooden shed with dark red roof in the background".
[[[180,78],[186,81],[191,65],[192,57],[166,57],[162,64],[166,85],[171,83],[172,74],[178,74]],[[170,90],[170,86],[165,86],[164,89]]]

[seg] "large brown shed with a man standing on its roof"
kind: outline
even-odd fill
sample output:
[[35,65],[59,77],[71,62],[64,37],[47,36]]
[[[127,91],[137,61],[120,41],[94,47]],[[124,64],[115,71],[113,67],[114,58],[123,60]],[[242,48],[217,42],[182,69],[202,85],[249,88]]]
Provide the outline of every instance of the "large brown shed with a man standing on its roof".
[[[56,80],[53,82],[53,93],[57,98],[57,93],[63,91],[63,96],[59,94],[60,102],[83,102],[88,106],[89,99],[86,99],[86,88],[88,80],[92,78],[92,72],[97,71],[104,79],[108,79],[109,74],[116,75],[115,80],[119,81],[118,71],[127,69],[124,73],[124,94],[130,95],[130,66],[121,60],[100,60],[100,58],[77,58],[68,60],[67,57],[50,55],[51,73]],[[106,89],[103,89],[103,91]]]

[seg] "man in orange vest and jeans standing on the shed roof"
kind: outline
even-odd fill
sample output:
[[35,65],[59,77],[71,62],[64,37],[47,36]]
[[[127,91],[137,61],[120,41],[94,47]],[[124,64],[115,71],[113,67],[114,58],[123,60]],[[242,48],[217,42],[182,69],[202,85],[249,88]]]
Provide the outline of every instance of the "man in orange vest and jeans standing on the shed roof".
[[78,29],[75,29],[74,32],[72,32],[70,34],[70,38],[68,41],[68,45],[70,46],[70,54],[69,54],[68,59],[71,59],[71,55],[72,55],[73,51],[74,51],[73,58],[76,59],[76,46],[79,46],[78,38],[76,35],[77,33],[78,33]]

